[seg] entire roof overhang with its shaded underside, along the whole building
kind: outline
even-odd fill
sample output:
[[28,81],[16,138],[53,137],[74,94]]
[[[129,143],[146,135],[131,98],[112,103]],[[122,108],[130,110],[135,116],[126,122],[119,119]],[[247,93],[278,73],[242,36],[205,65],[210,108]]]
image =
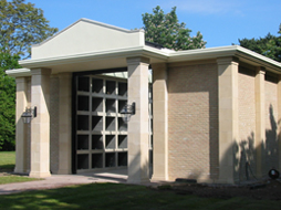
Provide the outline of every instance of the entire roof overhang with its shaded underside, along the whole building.
[[7,71],[7,74],[14,77],[28,76],[30,75],[30,70],[38,67],[52,69],[53,74],[60,72],[80,72],[124,67],[127,66],[126,59],[134,56],[148,57],[150,64],[236,56],[243,63],[248,63],[253,66],[263,66],[267,71],[281,74],[281,63],[238,45],[177,52],[144,45],[94,53],[73,54],[67,56],[31,59],[20,61],[20,65],[24,69],[10,70]]

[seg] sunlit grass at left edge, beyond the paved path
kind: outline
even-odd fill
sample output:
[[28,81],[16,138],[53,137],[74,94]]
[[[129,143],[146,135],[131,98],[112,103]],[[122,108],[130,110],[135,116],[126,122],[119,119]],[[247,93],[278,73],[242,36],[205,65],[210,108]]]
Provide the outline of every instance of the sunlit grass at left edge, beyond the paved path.
[[24,176],[14,176],[9,174],[13,171],[14,164],[15,164],[15,151],[0,151],[0,185],[39,180],[34,178],[29,178]]

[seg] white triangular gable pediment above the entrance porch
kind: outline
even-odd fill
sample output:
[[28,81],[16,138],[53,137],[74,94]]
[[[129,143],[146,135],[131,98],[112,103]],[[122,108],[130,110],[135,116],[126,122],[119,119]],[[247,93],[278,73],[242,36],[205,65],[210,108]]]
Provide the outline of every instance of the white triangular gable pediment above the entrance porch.
[[144,30],[127,30],[82,18],[50,39],[33,45],[33,59],[72,56],[145,45]]

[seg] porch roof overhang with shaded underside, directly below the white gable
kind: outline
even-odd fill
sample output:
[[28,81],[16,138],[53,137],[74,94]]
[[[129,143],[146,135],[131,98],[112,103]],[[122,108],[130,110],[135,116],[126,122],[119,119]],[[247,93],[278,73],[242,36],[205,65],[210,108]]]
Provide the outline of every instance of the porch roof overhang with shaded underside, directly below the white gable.
[[50,59],[31,59],[20,61],[20,65],[25,69],[52,69],[52,73],[94,71],[127,66],[126,59],[134,56],[149,57],[153,63],[167,62],[168,59],[168,54],[159,51],[158,49],[150,46],[137,46]]

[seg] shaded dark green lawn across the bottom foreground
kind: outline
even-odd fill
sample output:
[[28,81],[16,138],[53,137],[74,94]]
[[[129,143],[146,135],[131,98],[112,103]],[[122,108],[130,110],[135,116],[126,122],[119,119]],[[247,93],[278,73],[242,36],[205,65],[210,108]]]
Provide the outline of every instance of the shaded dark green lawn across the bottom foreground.
[[232,198],[228,200],[176,195],[144,186],[91,183],[0,196],[0,209],[280,209],[281,201]]

